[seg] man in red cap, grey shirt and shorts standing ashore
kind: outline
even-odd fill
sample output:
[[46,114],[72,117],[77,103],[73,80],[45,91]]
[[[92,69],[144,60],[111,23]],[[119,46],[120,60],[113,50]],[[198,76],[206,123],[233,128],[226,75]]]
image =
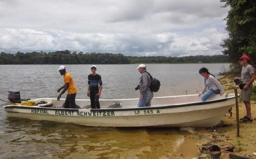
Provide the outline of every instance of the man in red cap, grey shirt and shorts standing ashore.
[[241,90],[241,100],[244,102],[246,108],[246,115],[240,120],[243,122],[252,122],[250,98],[253,89],[252,83],[255,80],[255,70],[253,66],[249,64],[250,58],[247,55],[241,56],[239,61],[240,65],[243,66],[241,71],[242,84],[245,84]]

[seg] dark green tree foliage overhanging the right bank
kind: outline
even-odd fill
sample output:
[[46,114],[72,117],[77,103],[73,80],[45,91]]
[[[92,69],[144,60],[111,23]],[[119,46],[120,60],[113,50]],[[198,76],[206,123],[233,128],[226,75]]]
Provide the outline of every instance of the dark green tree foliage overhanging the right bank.
[[241,55],[251,58],[252,66],[256,66],[256,1],[255,0],[220,0],[223,7],[230,7],[227,21],[229,38],[223,39],[223,54],[229,55],[234,64],[238,64]]

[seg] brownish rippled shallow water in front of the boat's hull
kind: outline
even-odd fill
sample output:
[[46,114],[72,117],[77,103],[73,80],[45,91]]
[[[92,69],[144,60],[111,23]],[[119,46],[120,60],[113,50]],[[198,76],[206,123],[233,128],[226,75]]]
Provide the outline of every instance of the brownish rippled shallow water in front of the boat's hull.
[[191,135],[178,128],[86,127],[13,118],[7,118],[4,134],[9,151],[2,155],[37,159],[158,158],[180,153],[183,142],[190,139],[186,135]]

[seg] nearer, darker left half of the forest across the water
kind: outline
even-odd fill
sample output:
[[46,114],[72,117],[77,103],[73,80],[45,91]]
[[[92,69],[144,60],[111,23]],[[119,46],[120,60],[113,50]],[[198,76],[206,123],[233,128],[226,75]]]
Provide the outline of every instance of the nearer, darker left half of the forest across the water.
[[118,53],[85,53],[68,50],[44,53],[0,53],[0,64],[131,64],[131,59]]

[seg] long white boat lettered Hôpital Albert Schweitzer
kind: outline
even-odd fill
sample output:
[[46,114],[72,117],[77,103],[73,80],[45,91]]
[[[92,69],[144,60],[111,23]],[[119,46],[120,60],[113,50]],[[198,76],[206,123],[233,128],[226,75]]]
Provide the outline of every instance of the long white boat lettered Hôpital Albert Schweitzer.
[[236,102],[235,94],[215,95],[206,102],[201,96],[156,97],[151,107],[137,108],[137,99],[100,100],[101,109],[91,109],[90,100],[76,100],[81,109],[62,108],[64,99],[33,99],[37,106],[4,106],[7,117],[46,120],[99,127],[212,127]]

